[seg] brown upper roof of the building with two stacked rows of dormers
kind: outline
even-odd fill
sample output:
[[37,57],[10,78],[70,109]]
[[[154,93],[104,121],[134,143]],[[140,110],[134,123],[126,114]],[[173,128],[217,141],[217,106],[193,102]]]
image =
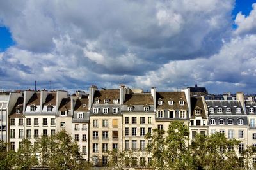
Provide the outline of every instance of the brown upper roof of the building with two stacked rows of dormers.
[[108,104],[113,104],[114,99],[119,99],[119,89],[96,90],[93,96],[94,99],[99,99],[99,104],[104,104],[104,99],[109,99]]

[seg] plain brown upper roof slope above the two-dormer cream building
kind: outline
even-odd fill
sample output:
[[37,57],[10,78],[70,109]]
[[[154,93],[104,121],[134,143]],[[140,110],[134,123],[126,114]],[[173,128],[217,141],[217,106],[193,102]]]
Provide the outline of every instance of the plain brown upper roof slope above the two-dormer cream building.
[[125,94],[124,104],[127,105],[153,105],[154,100],[150,93]]

